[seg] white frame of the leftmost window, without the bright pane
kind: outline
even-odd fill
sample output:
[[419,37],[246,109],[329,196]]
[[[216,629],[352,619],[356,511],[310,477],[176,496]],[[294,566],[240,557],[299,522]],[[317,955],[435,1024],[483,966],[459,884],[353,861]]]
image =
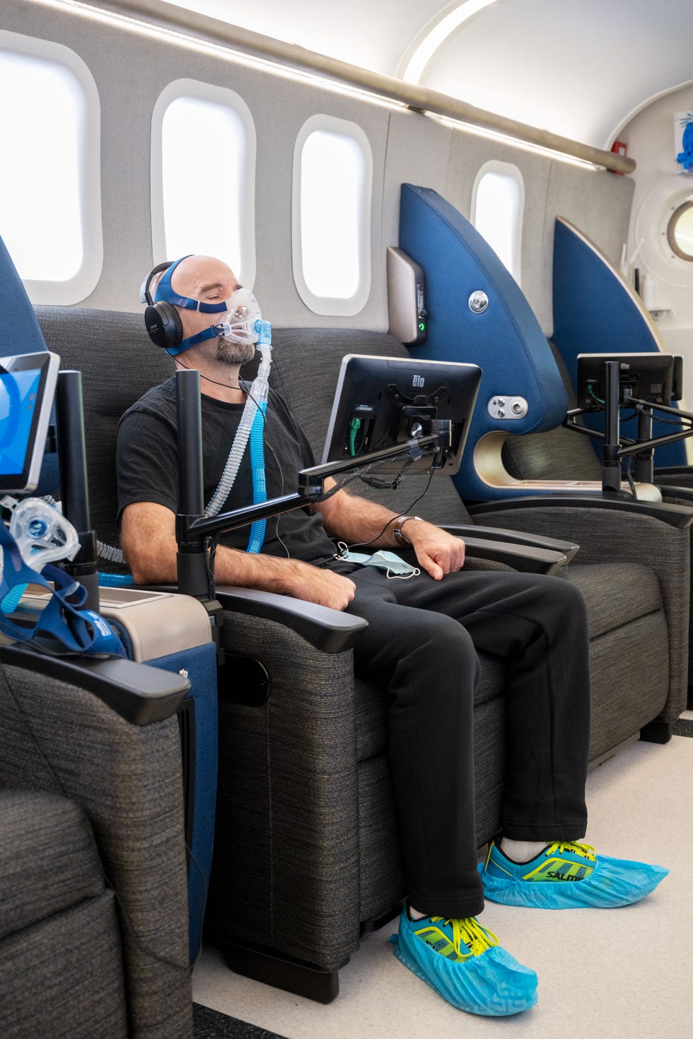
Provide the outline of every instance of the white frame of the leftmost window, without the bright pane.
[[[0,29],[0,50],[14,51],[39,61],[64,65],[82,89],[83,125],[78,142],[79,212],[82,231],[82,262],[63,281],[25,278],[24,288],[33,303],[73,305],[94,292],[104,262],[101,225],[101,105],[94,76],[84,61],[69,47]],[[4,142],[6,146],[6,141]],[[38,145],[41,136],[38,137]],[[41,146],[34,156],[41,161]],[[50,161],[47,164],[50,170]],[[41,248],[41,242],[36,242]]]

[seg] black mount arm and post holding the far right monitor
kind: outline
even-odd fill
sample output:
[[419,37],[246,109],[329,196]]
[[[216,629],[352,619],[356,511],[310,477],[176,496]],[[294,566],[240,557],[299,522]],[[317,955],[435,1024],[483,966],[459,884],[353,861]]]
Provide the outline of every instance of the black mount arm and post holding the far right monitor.
[[[654,457],[655,448],[664,444],[673,444],[676,441],[686,439],[693,436],[693,425],[677,433],[665,433],[662,436],[652,436],[652,412],[664,411],[673,415],[677,419],[688,419],[693,423],[693,415],[690,411],[683,411],[681,408],[666,407],[664,404],[652,404],[637,397],[631,397],[628,388],[621,388],[619,383],[619,366],[617,361],[606,361],[605,368],[605,399],[604,399],[604,427],[605,431],[588,429],[576,420],[580,415],[593,414],[591,409],[576,407],[569,410],[565,417],[563,425],[566,429],[571,429],[577,433],[584,433],[594,439],[603,441],[602,445],[602,490],[620,491],[621,482],[621,458],[635,457],[635,479],[639,483],[654,482]],[[628,439],[620,435],[620,414],[621,407],[638,408],[638,435],[637,439]]]

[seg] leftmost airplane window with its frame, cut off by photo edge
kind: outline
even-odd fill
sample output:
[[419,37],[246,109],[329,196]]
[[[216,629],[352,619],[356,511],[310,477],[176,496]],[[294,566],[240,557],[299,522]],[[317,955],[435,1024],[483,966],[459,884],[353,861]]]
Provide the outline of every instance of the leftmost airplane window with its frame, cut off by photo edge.
[[0,234],[33,302],[80,302],[99,279],[99,122],[81,58],[0,31]]

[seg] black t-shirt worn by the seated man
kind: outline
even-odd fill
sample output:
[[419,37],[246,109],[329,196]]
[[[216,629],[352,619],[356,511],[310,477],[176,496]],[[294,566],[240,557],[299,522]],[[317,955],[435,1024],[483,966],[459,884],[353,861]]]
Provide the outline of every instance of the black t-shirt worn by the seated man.
[[[228,404],[202,396],[203,483],[205,505],[216,490],[243,412],[243,404]],[[284,398],[270,390],[265,416],[265,480],[267,498],[297,489],[299,469],[315,464],[313,451]],[[149,390],[130,407],[118,425],[118,520],[127,505],[154,502],[178,512],[178,433],[176,378]],[[249,446],[243,453],[234,485],[220,511],[252,504]],[[219,536],[219,543],[245,550],[250,527]],[[281,539],[281,540],[279,540]],[[310,506],[267,520],[262,552],[309,563],[331,560],[336,548],[322,516]],[[329,563],[344,570],[345,564]],[[348,565],[348,564],[347,564]]]

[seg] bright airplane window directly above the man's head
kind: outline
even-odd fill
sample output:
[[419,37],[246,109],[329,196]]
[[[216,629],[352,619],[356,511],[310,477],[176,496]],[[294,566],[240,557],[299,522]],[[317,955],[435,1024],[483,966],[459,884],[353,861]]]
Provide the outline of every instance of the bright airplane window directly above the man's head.
[[196,80],[169,83],[152,117],[155,260],[219,257],[251,288],[255,162],[252,116],[235,91]]

